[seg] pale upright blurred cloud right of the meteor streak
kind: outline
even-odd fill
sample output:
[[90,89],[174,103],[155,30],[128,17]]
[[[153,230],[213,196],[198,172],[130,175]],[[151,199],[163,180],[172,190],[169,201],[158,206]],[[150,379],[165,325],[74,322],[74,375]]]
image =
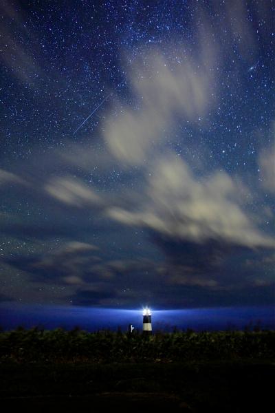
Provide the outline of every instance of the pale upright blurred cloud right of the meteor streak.
[[[164,141],[177,116],[197,120],[212,100],[213,85],[210,56],[192,62],[177,53],[180,63],[164,59],[162,52],[146,52],[144,63],[136,63],[130,75],[140,109],[122,105],[122,113],[103,125],[103,138],[109,151],[126,165],[142,165],[148,154]],[[179,57],[180,56],[180,57]]]

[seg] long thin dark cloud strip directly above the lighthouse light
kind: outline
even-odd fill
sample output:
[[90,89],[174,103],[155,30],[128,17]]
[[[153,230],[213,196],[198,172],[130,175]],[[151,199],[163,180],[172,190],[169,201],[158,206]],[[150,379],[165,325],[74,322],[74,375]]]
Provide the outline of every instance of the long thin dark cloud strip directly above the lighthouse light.
[[155,288],[137,288],[118,292],[108,286],[80,288],[70,295],[69,300],[76,306],[111,306],[142,308],[150,303],[153,308],[192,308],[234,305],[272,305],[274,293],[270,284],[246,285],[230,289],[213,289],[195,284],[157,283]]

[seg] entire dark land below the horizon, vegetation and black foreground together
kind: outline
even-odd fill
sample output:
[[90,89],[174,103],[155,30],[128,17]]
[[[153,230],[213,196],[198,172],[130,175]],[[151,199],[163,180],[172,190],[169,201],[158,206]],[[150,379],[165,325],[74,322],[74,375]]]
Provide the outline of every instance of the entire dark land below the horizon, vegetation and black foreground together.
[[1,405],[46,412],[268,411],[275,332],[0,333]]

